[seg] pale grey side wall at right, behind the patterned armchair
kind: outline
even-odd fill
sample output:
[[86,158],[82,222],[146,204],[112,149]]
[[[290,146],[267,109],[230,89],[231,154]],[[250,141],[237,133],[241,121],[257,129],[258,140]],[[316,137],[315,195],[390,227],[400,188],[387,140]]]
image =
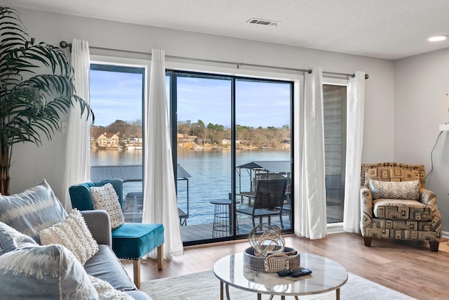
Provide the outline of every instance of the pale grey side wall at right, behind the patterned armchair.
[[[394,67],[394,159],[424,164],[429,174],[438,125],[449,122],[449,48],[396,60]],[[433,167],[427,188],[436,193],[443,231],[449,231],[449,131],[438,139]]]

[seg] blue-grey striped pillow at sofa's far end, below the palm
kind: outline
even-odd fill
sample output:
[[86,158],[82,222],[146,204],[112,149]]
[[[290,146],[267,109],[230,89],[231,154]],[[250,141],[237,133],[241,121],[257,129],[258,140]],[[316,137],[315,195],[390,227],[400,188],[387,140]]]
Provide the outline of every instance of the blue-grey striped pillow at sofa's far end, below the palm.
[[45,179],[22,193],[0,195],[0,221],[29,235],[38,244],[39,231],[64,221],[66,216],[67,212]]

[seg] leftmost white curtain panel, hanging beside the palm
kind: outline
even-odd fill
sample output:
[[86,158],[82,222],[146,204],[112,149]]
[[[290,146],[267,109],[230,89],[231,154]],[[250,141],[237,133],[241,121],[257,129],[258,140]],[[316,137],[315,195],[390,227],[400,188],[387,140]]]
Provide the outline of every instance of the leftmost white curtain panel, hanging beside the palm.
[[[88,41],[73,39],[72,66],[74,68],[74,86],[76,95],[87,103],[89,100],[90,56]],[[67,147],[65,154],[65,170],[62,205],[67,212],[72,211],[69,187],[76,183],[89,181],[91,178],[91,123],[86,120],[87,112],[81,116],[79,105],[69,110],[67,122]]]

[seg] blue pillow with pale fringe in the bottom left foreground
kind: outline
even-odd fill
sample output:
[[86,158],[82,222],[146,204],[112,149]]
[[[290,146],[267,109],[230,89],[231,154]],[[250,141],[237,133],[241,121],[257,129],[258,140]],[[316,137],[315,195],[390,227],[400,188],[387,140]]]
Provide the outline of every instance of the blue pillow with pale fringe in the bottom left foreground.
[[81,263],[58,244],[0,256],[0,290],[2,299],[98,299]]

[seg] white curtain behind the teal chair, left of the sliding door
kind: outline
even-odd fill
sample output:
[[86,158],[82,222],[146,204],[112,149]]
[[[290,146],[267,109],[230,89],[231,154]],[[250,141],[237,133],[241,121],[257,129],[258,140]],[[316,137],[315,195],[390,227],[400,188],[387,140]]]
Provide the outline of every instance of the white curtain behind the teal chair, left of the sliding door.
[[[175,177],[170,145],[166,96],[165,52],[152,51],[149,100],[145,105],[145,167],[142,223],[162,223],[164,257],[182,255]],[[151,254],[154,257],[154,253]]]

